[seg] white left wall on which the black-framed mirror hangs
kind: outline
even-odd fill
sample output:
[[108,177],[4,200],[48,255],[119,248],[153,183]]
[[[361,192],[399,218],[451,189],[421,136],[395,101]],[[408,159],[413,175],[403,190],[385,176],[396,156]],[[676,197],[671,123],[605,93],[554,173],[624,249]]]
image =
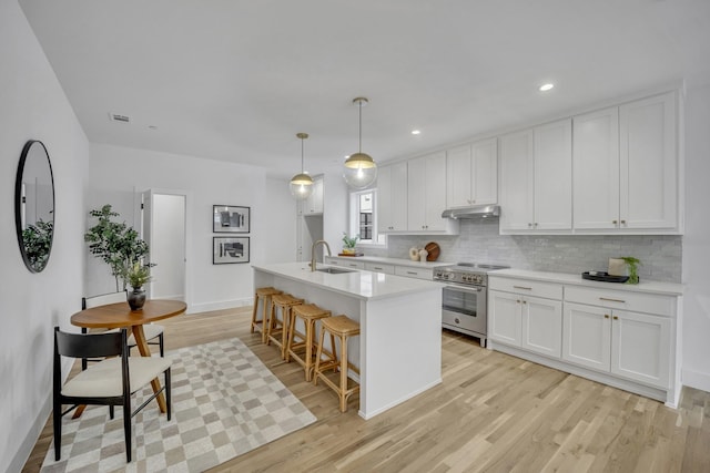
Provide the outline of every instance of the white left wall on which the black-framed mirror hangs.
[[[0,1],[0,471],[20,471],[51,409],[53,326],[81,308],[89,143],[17,1]],[[55,232],[31,274],[14,229],[14,178],[28,140],[47,146]]]

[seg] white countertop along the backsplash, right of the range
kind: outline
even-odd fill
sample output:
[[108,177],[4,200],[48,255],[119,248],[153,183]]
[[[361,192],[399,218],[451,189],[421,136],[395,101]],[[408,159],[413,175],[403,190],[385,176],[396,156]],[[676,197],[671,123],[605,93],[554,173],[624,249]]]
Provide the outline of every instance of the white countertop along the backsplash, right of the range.
[[581,274],[529,271],[524,269],[499,269],[488,274],[488,277],[500,276],[504,278],[521,278],[545,282],[558,282],[566,285],[577,285],[592,287],[597,289],[626,290],[631,292],[650,292],[668,296],[682,296],[683,286],[674,282],[645,281],[641,279],[638,285],[619,282],[602,282],[582,279]]

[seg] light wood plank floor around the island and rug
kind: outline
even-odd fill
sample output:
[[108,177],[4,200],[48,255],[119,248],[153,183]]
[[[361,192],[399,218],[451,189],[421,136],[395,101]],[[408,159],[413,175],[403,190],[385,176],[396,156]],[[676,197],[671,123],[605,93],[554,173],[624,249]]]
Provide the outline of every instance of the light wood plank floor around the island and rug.
[[[445,331],[444,382],[364,421],[356,399],[342,414],[329,389],[278,364],[250,317],[244,308],[168,320],[166,349],[239,337],[318,420],[213,472],[710,472],[710,393],[686,388],[672,410]],[[39,471],[51,435],[50,421],[24,471]]]

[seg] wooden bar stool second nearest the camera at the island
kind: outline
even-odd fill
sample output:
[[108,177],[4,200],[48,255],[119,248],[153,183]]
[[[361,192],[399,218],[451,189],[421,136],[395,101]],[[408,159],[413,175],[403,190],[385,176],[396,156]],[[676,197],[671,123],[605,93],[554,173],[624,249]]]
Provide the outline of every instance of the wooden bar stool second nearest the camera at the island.
[[[331,311],[322,309],[315,304],[294,306],[291,310],[288,333],[286,336],[286,362],[291,361],[293,357],[303,367],[306,373],[306,381],[311,381],[311,371],[314,364],[313,357],[317,350],[315,345],[315,322],[325,317],[331,317]],[[305,333],[296,330],[297,319],[303,320]]]

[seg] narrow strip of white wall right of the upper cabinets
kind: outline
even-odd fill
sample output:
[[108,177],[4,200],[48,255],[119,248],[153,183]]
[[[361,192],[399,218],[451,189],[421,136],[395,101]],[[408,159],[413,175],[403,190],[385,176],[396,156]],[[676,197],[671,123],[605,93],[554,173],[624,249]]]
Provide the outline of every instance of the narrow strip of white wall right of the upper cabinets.
[[710,391],[710,80],[686,96],[683,384]]

